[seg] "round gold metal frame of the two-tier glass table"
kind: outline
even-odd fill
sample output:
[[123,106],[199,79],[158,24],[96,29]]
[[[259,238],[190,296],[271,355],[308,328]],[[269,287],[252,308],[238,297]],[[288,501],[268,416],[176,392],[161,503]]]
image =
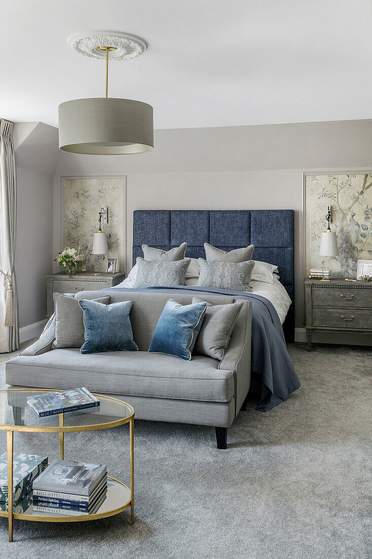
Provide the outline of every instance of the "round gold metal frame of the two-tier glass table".
[[[9,389],[1,390],[0,392],[37,392],[41,394],[42,391],[46,392],[57,392],[60,389]],[[128,406],[132,410],[132,413],[125,418],[116,419],[115,421],[108,421],[107,423],[98,423],[94,425],[64,425],[64,414],[59,414],[59,426],[58,427],[32,427],[28,425],[0,425],[0,430],[5,430],[7,432],[7,466],[8,466],[8,488],[11,487],[12,490],[8,489],[8,510],[0,511],[1,517],[8,517],[9,525],[9,542],[13,541],[13,518],[20,520],[32,520],[34,522],[85,522],[86,520],[98,520],[99,518],[111,517],[115,514],[121,513],[123,510],[131,508],[131,524],[134,523],[134,416],[135,410],[127,402],[113,398],[112,396],[106,396],[103,394],[94,394],[96,397],[104,398],[106,401],[119,402],[123,406]],[[95,408],[92,408],[92,411]],[[107,476],[108,479],[117,482],[118,484],[126,487],[130,493],[130,499],[127,503],[122,504],[120,507],[112,510],[105,511],[103,513],[97,514],[86,514],[79,516],[48,516],[44,517],[42,515],[32,515],[25,513],[13,513],[13,433],[15,431],[27,431],[31,433],[59,433],[59,456],[60,459],[64,459],[64,434],[82,431],[96,431],[99,429],[109,429],[111,427],[117,427],[118,425],[124,425],[125,423],[130,424],[130,487],[123,484],[121,481],[116,480],[114,477]]]

